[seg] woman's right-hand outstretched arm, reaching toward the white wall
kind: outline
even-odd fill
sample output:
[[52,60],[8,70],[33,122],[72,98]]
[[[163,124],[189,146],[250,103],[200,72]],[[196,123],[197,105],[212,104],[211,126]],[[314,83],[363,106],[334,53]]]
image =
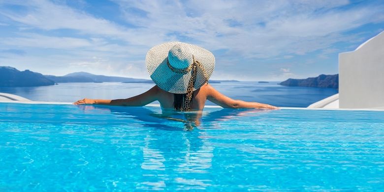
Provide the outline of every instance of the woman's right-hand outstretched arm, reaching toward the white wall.
[[214,102],[217,105],[220,105],[224,108],[257,108],[257,109],[278,109],[278,107],[257,103],[257,102],[247,102],[243,100],[235,100],[224,96],[218,92],[215,88],[208,84],[208,93],[207,99]]

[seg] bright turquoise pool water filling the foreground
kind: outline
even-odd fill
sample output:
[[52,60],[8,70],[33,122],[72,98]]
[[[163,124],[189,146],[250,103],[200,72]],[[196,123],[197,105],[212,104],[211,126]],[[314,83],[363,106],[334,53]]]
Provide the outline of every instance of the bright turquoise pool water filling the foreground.
[[382,191],[384,112],[0,103],[0,191],[23,190]]

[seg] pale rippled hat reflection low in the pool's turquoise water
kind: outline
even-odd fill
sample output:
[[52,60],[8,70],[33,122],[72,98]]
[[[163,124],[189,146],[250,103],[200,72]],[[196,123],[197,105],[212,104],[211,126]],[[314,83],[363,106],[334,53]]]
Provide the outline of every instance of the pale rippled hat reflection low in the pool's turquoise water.
[[[197,132],[195,135],[199,134]],[[141,163],[141,168],[146,170],[145,178],[136,189],[163,190],[174,182],[179,184],[179,189],[186,186],[188,189],[205,189],[209,186],[210,179],[198,181],[196,176],[189,176],[189,173],[195,173],[203,177],[212,167],[214,147],[206,139],[198,139],[195,135],[190,138],[190,133],[182,132],[172,137],[172,140],[164,141],[157,139],[154,132],[147,134]],[[176,181],[169,180],[175,177],[168,175],[169,169],[177,175]],[[184,181],[194,182],[186,185]]]

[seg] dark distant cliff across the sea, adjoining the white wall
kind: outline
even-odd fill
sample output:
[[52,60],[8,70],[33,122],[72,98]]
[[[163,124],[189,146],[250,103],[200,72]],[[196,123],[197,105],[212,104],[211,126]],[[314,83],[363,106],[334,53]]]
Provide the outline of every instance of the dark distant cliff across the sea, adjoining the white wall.
[[339,89],[339,74],[336,75],[319,75],[318,77],[310,77],[307,79],[288,79],[279,83],[284,86],[291,87],[320,87]]

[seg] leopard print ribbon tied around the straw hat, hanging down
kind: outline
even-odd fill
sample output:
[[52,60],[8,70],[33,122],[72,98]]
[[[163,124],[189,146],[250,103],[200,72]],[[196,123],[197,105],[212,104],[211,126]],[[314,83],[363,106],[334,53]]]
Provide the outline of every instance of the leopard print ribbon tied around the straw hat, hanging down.
[[192,58],[193,58],[193,63],[187,68],[183,68],[183,69],[174,68],[171,64],[169,64],[169,61],[167,60],[167,65],[173,72],[186,74],[192,70],[192,76],[191,76],[190,82],[188,83],[188,88],[187,88],[187,96],[184,100],[184,106],[181,108],[181,111],[191,111],[191,100],[193,96],[193,87],[197,77],[197,67],[199,67],[203,72],[205,83],[208,82],[208,75],[205,72],[204,67],[201,65],[200,62],[196,61],[193,56]]

